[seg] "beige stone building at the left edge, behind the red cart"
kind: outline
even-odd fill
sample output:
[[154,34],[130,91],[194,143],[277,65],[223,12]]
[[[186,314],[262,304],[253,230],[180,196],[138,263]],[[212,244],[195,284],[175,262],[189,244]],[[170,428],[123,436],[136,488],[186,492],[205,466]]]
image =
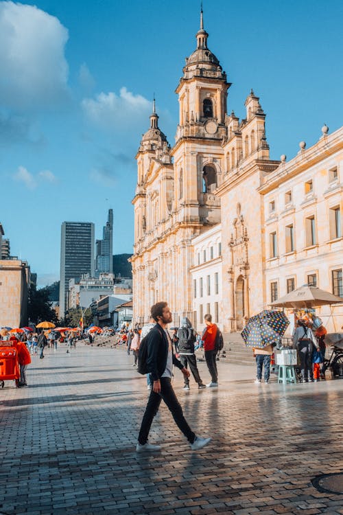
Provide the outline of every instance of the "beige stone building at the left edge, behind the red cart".
[[0,260],[0,327],[27,325],[29,266],[21,260]]

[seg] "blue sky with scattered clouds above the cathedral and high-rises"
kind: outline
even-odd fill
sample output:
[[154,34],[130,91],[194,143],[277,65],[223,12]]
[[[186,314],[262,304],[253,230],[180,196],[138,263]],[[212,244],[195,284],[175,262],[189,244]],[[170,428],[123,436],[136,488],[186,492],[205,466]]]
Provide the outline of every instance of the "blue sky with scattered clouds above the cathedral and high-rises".
[[[11,251],[58,279],[60,226],[114,210],[114,253],[132,251],[134,155],[152,95],[174,143],[174,93],[196,47],[198,0],[0,1],[0,221]],[[341,0],[204,0],[228,112],[254,89],[270,157],[290,159],[343,121]]]

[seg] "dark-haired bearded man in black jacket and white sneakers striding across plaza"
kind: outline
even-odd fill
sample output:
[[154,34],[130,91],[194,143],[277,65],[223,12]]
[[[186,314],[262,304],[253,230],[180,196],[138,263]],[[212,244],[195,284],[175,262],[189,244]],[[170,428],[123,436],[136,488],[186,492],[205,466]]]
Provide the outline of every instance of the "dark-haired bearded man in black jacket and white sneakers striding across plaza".
[[151,314],[154,321],[156,321],[156,325],[145,338],[147,339],[147,369],[150,372],[153,385],[143,415],[136,450],[138,453],[141,453],[161,449],[161,446],[152,445],[147,442],[152,420],[158,412],[161,400],[164,400],[165,404],[167,404],[178,428],[189,441],[191,450],[201,449],[211,441],[211,438],[197,437],[191,431],[182,413],[182,407],[171,386],[173,365],[178,367],[184,376],[189,377],[189,371],[183,367],[182,363],[176,359],[173,353],[171,338],[167,331],[167,324],[172,320],[167,302],[154,304],[151,308]]

